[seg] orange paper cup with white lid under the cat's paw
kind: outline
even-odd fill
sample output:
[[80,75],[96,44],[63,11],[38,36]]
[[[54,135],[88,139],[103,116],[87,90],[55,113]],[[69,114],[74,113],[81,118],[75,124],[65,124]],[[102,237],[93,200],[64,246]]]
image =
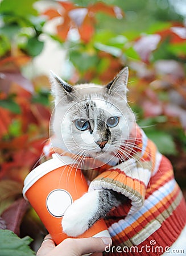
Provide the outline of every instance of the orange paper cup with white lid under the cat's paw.
[[[61,226],[65,210],[88,191],[85,177],[71,164],[73,160],[68,156],[53,154],[52,159],[40,164],[24,180],[24,199],[38,213],[56,244],[68,237]],[[104,220],[97,221],[78,238],[92,236],[110,237]]]

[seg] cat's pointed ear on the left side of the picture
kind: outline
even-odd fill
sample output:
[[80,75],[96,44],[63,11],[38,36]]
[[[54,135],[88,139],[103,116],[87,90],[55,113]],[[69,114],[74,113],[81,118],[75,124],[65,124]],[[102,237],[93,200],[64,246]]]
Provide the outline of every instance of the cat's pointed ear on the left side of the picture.
[[51,71],[50,76],[52,94],[55,97],[55,104],[57,104],[62,98],[63,100],[73,101],[74,89],[72,85],[60,79],[55,73]]

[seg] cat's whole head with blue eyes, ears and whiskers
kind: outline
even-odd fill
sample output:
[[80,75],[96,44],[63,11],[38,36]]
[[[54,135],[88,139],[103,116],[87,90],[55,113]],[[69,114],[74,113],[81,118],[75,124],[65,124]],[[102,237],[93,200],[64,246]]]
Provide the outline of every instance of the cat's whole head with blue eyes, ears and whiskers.
[[71,86],[52,73],[55,110],[51,125],[58,147],[92,158],[118,150],[135,123],[127,104],[128,74],[128,68],[123,68],[105,86]]

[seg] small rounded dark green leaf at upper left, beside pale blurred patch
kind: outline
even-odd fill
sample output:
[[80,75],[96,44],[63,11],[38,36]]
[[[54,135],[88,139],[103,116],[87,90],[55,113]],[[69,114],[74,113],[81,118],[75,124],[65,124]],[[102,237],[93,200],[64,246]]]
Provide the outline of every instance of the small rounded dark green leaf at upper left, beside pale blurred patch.
[[26,50],[29,55],[35,57],[42,52],[44,46],[44,42],[40,41],[38,38],[30,38],[28,39]]

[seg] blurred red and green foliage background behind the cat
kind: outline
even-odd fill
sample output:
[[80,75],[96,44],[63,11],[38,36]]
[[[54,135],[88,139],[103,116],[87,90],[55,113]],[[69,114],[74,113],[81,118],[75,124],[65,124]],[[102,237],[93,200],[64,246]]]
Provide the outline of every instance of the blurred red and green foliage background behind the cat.
[[129,66],[129,104],[186,195],[185,17],[183,0],[0,1],[0,240],[15,240],[14,256],[34,255],[46,233],[22,198],[24,177],[49,136],[48,77],[29,68],[47,47],[44,38],[59,45],[54,57],[65,53],[57,75],[71,84],[106,84]]

